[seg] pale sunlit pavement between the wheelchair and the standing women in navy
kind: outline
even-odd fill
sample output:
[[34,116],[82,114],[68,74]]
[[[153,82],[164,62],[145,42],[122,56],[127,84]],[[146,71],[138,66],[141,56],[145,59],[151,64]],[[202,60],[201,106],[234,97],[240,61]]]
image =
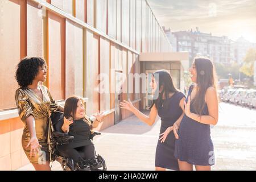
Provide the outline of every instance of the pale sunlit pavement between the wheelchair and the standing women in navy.
[[[149,114],[148,111],[144,112]],[[155,170],[155,148],[158,142],[160,119],[153,126],[139,121],[135,116],[101,131],[93,140],[97,154],[106,160],[108,170]],[[34,170],[28,164],[18,170]],[[62,170],[53,162],[52,170]]]

